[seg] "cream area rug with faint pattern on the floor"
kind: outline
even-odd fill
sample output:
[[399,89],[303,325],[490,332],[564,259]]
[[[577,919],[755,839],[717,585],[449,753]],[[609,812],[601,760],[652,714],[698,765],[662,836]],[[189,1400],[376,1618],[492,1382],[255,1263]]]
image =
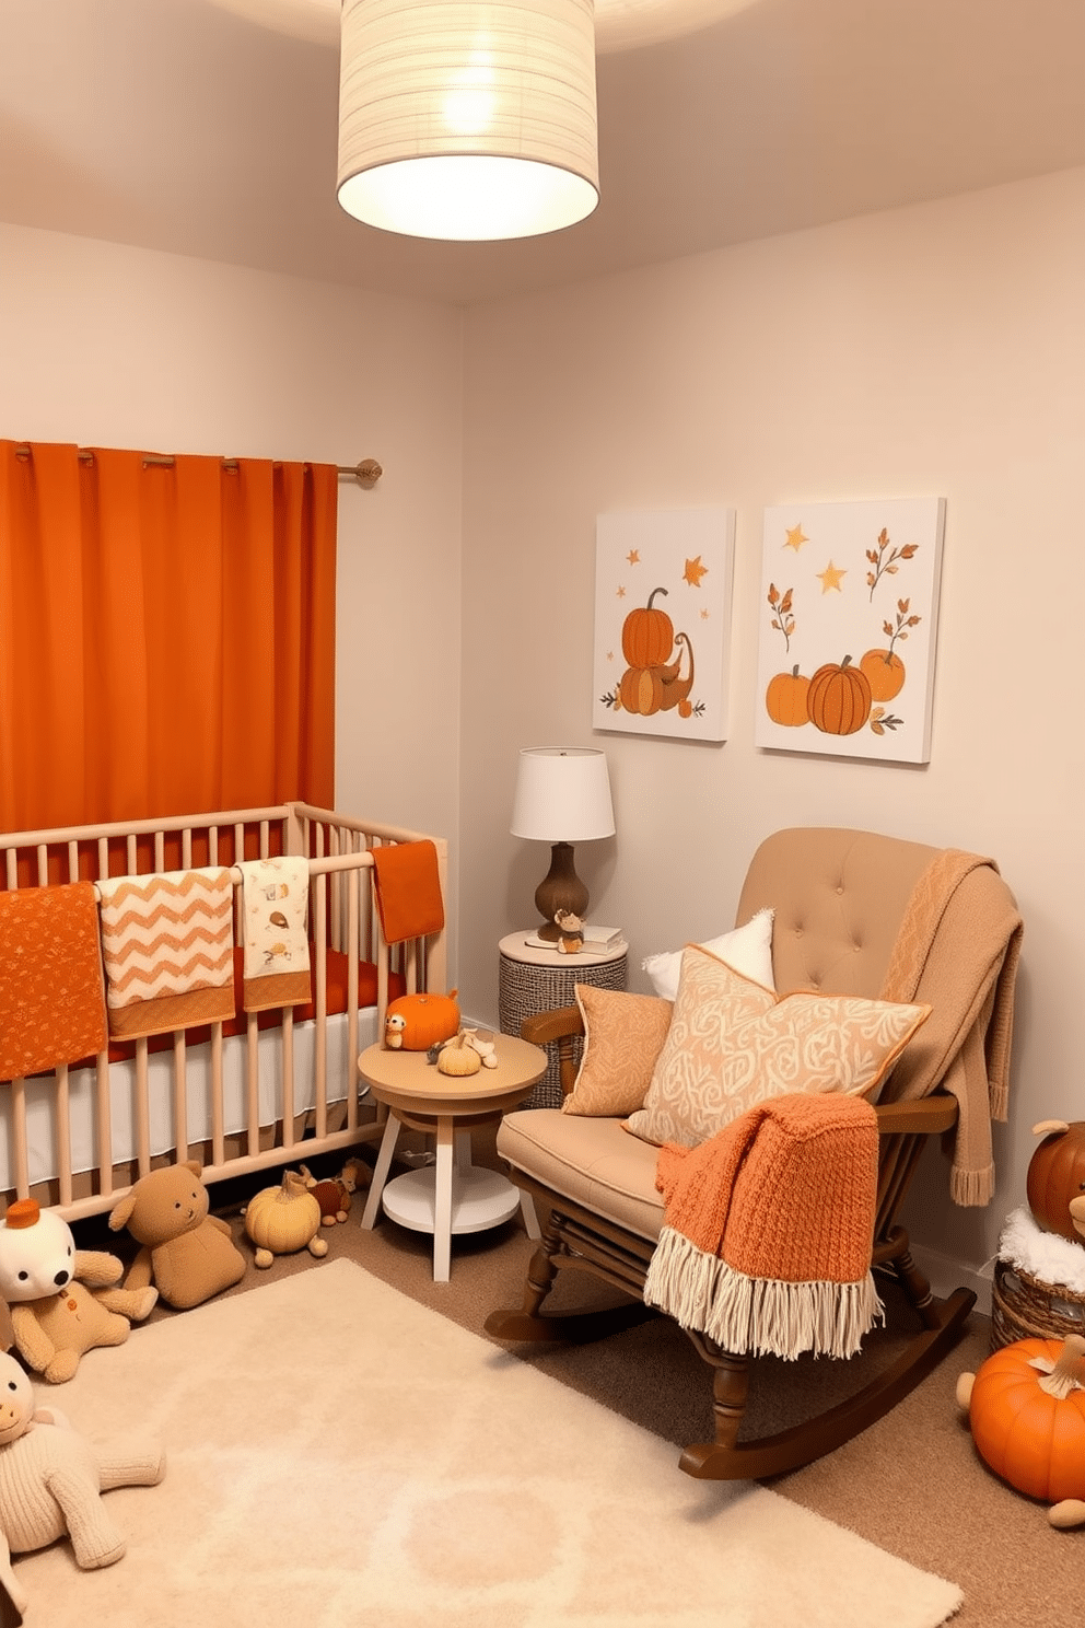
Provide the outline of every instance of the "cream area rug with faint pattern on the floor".
[[346,1260],[169,1319],[41,1385],[158,1433],[106,1493],[127,1553],[15,1561],[31,1628],[935,1628],[956,1587],[678,1451]]

